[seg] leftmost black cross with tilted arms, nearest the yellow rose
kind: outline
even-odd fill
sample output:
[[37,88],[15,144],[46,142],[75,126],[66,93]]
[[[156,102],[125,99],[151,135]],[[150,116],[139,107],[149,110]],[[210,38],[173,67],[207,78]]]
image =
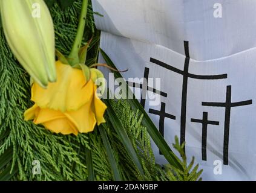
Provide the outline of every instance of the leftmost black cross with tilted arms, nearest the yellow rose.
[[157,90],[157,89],[154,89],[153,87],[149,87],[148,86],[148,76],[149,76],[149,68],[145,68],[145,71],[144,71],[144,81],[142,84],[139,84],[139,83],[131,83],[131,82],[127,82],[127,84],[129,86],[133,86],[135,88],[139,88],[139,89],[142,89],[142,96],[140,98],[140,104],[142,105],[143,108],[145,108],[145,103],[146,103],[146,92],[147,91],[150,91],[150,92],[153,92],[153,93],[157,93],[159,94],[160,96],[164,96],[164,97],[167,97],[167,93],[165,92],[162,92],[160,90]]

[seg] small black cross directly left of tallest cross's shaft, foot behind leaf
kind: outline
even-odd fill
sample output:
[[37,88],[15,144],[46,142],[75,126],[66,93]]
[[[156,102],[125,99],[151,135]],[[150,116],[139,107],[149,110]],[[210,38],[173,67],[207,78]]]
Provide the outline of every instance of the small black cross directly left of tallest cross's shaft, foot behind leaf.
[[[169,119],[174,119],[176,120],[176,116],[168,114],[165,112],[165,103],[161,103],[161,109],[159,110],[154,110],[154,109],[149,109],[149,113],[154,114],[154,115],[159,115],[159,131],[164,137],[164,128],[165,128],[165,118]],[[160,152],[160,154],[162,154]]]

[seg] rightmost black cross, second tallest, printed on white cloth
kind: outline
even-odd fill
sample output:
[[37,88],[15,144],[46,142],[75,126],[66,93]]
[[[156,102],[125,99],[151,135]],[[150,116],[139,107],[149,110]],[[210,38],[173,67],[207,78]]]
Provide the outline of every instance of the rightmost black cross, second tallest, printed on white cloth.
[[225,126],[224,126],[224,144],[223,144],[223,163],[224,163],[224,165],[228,165],[229,124],[230,124],[231,108],[239,107],[239,106],[246,106],[246,105],[250,105],[250,104],[252,104],[252,100],[232,103],[231,102],[231,86],[227,86],[226,102],[225,103],[206,103],[206,102],[202,103],[202,106],[225,107]]

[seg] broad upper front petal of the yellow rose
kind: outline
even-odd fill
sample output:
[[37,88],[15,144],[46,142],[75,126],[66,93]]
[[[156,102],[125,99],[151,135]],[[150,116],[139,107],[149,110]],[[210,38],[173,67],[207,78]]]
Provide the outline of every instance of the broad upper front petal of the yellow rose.
[[58,61],[56,69],[56,83],[49,83],[47,89],[34,83],[31,100],[41,108],[61,112],[79,109],[90,100],[93,93],[88,90],[92,89],[93,83],[87,83],[82,70],[74,69],[70,65]]

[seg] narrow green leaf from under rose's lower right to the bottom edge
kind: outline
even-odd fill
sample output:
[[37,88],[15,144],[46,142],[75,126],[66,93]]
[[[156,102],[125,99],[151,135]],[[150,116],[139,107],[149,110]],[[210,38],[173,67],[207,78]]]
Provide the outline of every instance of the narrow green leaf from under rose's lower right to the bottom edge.
[[114,152],[111,148],[110,141],[108,141],[108,136],[102,125],[99,126],[100,135],[102,137],[103,144],[106,148],[108,161],[110,162],[110,166],[113,172],[114,180],[121,181],[119,169],[117,168],[116,159],[114,158]]

